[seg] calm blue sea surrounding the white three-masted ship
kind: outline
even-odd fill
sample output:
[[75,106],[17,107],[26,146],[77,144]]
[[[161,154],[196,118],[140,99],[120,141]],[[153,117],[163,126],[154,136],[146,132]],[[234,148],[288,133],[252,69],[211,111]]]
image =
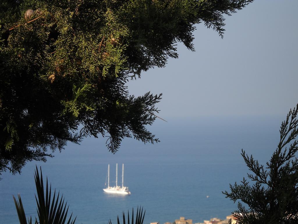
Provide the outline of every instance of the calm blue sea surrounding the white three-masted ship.
[[[279,139],[283,116],[205,117],[157,120],[149,129],[161,142],[154,145],[123,141],[111,154],[105,139],[69,144],[46,163],[30,162],[21,175],[4,173],[0,181],[0,223],[18,223],[12,195],[21,195],[26,215],[35,217],[35,164],[42,167],[52,187],[60,190],[77,216],[76,223],[116,223],[122,211],[141,205],[145,224],[173,222],[184,216],[193,222],[224,219],[237,208],[221,191],[240,182],[248,169],[241,148],[261,163],[270,159]],[[103,192],[110,164],[111,181],[116,163],[124,163],[124,185],[131,195]],[[121,176],[119,172],[119,176]],[[120,182],[120,178],[118,179]],[[206,196],[209,195],[209,198]]]

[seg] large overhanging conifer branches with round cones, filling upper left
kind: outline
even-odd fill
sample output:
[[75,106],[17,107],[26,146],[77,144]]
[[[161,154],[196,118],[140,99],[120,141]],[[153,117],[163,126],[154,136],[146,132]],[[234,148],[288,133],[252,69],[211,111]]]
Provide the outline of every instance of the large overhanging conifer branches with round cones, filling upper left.
[[176,42],[194,50],[195,24],[222,36],[224,15],[251,1],[2,0],[0,173],[85,136],[110,136],[112,153],[124,137],[159,141],[145,126],[161,94],[125,83],[177,58]]

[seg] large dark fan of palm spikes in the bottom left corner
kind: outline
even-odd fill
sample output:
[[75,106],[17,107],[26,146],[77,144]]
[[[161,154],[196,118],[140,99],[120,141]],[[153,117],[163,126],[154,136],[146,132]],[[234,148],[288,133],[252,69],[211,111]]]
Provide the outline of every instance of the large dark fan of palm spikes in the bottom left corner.
[[[36,167],[34,178],[35,178],[35,185],[36,185],[36,191],[37,191],[37,197],[35,195],[35,200],[37,203],[37,213],[38,213],[38,220],[39,220],[39,222],[37,222],[37,219],[35,218],[35,224],[37,223],[65,224],[69,206],[66,205],[67,202],[64,204],[63,195],[59,198],[59,192],[58,192],[57,197],[55,197],[56,195],[56,190],[55,190],[51,201],[51,185],[50,187],[48,186],[48,179],[46,179],[46,192],[44,192],[44,181],[42,177],[42,172],[41,172],[41,175],[39,176],[37,167]],[[15,200],[15,197],[13,198]],[[19,195],[18,195],[18,198],[19,198],[19,202],[15,200],[15,206],[18,212],[20,224],[27,224],[25,211],[23,208],[21,197]],[[75,223],[76,218],[74,220],[71,220],[71,218],[72,218],[72,214],[70,215],[67,221],[67,224]],[[29,221],[29,224],[32,224],[31,217],[30,217],[30,220],[28,219],[28,221]]]

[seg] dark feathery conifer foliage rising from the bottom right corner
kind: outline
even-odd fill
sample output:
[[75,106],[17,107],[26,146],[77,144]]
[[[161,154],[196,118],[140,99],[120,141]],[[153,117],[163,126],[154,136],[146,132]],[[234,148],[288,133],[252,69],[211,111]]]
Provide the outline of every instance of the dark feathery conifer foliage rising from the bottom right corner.
[[[242,157],[251,171],[241,184],[230,184],[227,198],[238,201],[233,212],[238,224],[298,223],[298,104],[290,110],[280,126],[280,142],[266,166],[252,156]],[[231,221],[230,221],[231,222]]]

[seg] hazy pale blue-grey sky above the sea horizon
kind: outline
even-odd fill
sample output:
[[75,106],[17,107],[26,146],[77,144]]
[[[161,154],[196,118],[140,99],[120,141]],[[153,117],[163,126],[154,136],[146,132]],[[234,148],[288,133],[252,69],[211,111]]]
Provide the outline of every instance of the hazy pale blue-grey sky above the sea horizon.
[[226,17],[224,39],[198,24],[195,52],[128,83],[163,93],[160,116],[286,115],[297,100],[298,1],[258,0]]

